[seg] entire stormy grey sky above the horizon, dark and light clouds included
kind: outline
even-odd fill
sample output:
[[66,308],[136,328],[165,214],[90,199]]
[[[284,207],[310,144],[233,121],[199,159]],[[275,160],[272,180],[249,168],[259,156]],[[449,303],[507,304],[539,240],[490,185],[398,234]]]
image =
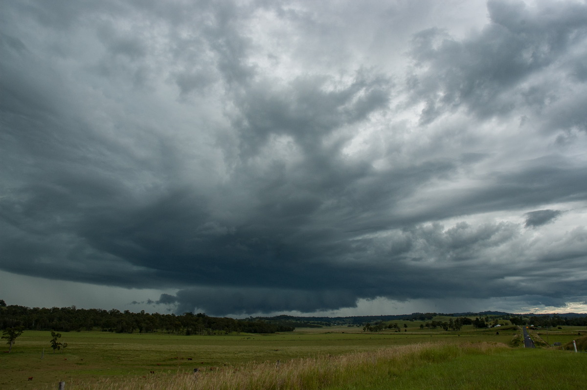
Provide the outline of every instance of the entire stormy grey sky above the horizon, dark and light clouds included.
[[587,313],[587,2],[0,7],[7,304]]

